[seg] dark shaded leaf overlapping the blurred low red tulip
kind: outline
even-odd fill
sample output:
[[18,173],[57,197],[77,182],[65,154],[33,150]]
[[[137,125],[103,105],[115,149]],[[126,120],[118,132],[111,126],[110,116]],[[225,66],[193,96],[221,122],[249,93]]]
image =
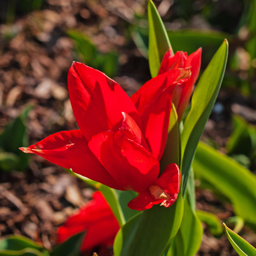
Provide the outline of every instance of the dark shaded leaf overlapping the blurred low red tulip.
[[56,246],[50,256],[80,256],[80,248],[83,242],[85,232],[72,236],[59,246]]

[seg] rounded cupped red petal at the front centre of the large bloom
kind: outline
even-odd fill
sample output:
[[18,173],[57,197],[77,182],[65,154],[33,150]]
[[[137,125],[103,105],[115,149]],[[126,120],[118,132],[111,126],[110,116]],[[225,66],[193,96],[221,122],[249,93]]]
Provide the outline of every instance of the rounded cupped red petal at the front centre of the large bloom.
[[144,147],[112,131],[90,140],[89,148],[123,189],[144,191],[159,174],[159,163]]

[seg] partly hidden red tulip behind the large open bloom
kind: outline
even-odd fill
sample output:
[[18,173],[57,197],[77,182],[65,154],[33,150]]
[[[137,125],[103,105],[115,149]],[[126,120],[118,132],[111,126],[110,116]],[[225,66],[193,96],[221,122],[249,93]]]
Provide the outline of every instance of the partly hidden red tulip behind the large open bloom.
[[191,67],[191,76],[190,78],[176,86],[173,91],[172,101],[177,110],[178,121],[181,122],[184,112],[187,108],[189,99],[192,95],[194,84],[199,75],[200,66],[201,66],[201,55],[202,48],[199,48],[189,56],[187,52],[178,51],[172,55],[172,51],[168,50],[163,57],[161,66],[159,68],[158,75],[163,74],[164,72],[170,71],[176,68],[187,68]]

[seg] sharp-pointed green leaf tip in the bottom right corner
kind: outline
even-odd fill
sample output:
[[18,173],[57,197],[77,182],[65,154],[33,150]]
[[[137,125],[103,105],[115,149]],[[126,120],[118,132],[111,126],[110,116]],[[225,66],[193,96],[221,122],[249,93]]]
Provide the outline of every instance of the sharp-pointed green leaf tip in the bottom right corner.
[[229,229],[225,223],[223,223],[223,229],[230,244],[240,256],[256,256],[256,249],[246,242],[244,238],[238,236],[238,234]]

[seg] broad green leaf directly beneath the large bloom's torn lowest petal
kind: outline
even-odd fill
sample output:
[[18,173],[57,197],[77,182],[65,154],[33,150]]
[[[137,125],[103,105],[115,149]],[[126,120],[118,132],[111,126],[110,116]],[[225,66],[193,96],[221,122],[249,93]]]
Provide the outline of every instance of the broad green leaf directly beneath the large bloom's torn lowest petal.
[[115,256],[160,256],[175,237],[183,213],[182,195],[165,208],[154,205],[135,215],[117,233]]

